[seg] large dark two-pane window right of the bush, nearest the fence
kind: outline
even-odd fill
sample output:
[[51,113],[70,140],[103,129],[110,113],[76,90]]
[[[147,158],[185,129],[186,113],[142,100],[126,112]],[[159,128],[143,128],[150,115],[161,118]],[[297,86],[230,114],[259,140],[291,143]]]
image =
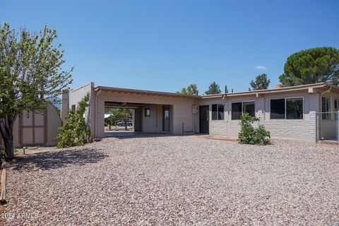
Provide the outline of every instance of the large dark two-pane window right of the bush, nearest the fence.
[[270,119],[303,119],[304,100],[301,97],[270,100]]

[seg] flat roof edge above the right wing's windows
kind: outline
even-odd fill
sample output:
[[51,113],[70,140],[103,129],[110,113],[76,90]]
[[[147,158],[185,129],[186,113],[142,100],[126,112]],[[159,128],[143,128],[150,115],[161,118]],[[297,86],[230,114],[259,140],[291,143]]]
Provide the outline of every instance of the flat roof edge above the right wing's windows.
[[[314,83],[314,84],[307,84],[307,85],[296,85],[296,86],[289,86],[283,88],[273,88],[267,90],[251,90],[246,92],[238,92],[238,93],[224,93],[224,94],[215,94],[215,95],[204,95],[202,98],[215,98],[215,97],[234,97],[234,96],[242,96],[242,95],[258,95],[258,94],[268,94],[268,93],[285,93],[285,92],[292,92],[292,91],[299,91],[299,90],[309,90],[311,89],[326,89],[331,88],[333,91],[339,92],[338,85],[332,85],[329,83]],[[313,91],[311,92],[313,93]]]

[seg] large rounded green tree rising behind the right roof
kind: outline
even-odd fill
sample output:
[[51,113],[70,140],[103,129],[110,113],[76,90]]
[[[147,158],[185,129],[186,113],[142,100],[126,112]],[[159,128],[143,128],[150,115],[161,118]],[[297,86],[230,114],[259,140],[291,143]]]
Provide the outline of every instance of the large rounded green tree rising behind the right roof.
[[287,58],[279,79],[285,87],[328,80],[338,85],[339,49],[317,47],[296,52]]

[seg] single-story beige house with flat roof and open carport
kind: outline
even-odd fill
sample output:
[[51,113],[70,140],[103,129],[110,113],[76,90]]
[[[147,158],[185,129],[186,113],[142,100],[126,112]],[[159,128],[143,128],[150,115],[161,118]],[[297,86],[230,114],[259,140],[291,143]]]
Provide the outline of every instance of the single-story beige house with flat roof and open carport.
[[338,136],[334,113],[320,117],[316,126],[315,112],[338,111],[339,86],[329,83],[203,96],[88,83],[63,95],[62,120],[86,93],[90,93],[90,106],[85,117],[96,138],[105,137],[105,107],[133,109],[134,131],[140,132],[236,137],[239,118],[248,112],[260,119],[273,138],[314,141],[316,133],[319,139]]

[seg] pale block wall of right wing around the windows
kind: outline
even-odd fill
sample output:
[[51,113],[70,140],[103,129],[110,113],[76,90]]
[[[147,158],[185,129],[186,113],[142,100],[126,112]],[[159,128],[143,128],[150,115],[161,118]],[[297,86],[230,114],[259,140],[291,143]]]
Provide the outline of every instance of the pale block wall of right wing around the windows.
[[[304,98],[304,118],[303,119],[270,119],[270,99],[283,97],[303,97]],[[256,97],[247,95],[243,97],[221,97],[203,99],[199,105],[210,105],[210,119],[212,119],[213,104],[225,105],[225,120],[210,120],[210,134],[225,136],[237,136],[240,130],[239,120],[231,119],[232,102],[255,101],[256,117],[260,124],[266,126],[273,138],[290,138],[303,141],[314,141],[315,119],[314,112],[319,112],[319,94],[305,92],[290,92],[288,94],[270,94]]]

